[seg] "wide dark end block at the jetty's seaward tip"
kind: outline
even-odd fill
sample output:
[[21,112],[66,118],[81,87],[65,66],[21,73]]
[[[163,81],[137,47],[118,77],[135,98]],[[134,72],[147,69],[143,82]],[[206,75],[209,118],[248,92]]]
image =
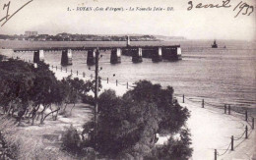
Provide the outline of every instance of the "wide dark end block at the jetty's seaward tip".
[[162,59],[168,61],[181,60],[181,48],[177,46],[164,46],[161,48]]

